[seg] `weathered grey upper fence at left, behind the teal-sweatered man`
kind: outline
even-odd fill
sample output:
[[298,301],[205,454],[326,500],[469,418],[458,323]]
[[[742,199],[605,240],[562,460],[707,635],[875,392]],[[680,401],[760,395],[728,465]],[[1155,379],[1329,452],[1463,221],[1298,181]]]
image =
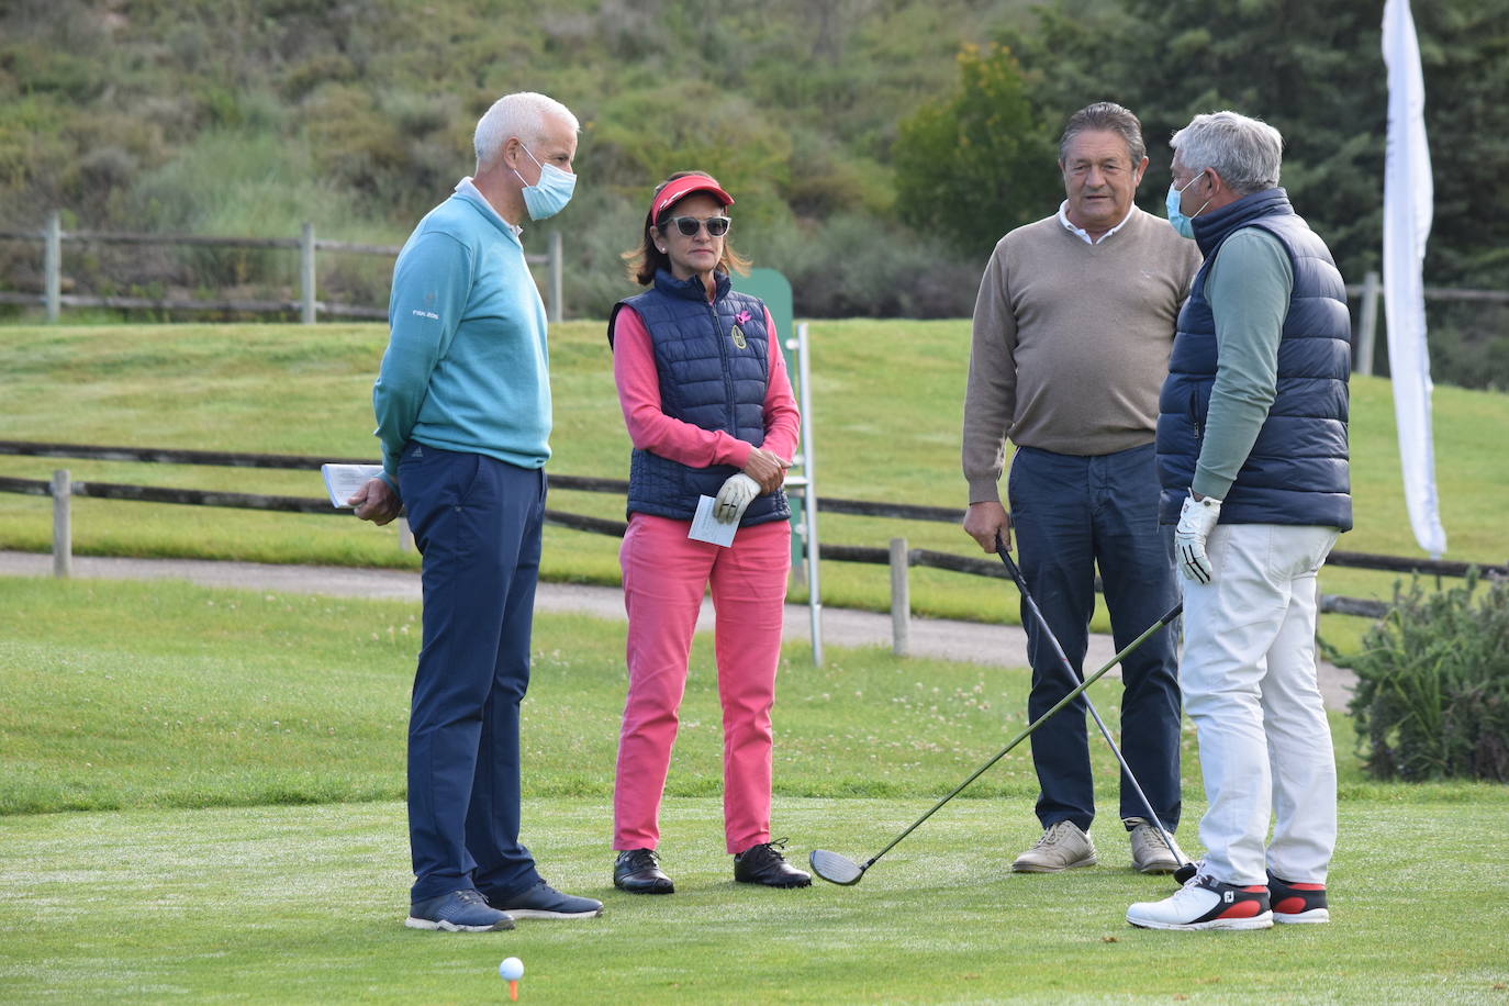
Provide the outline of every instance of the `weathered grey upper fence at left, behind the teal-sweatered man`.
[[[240,311],[247,314],[299,312],[303,324],[314,324],[318,315],[337,318],[385,320],[388,309],[377,305],[338,305],[315,299],[315,252],[349,252],[353,255],[379,255],[397,258],[398,244],[368,244],[362,241],[332,241],[317,238],[314,225],[305,223],[296,238],[270,237],[219,237],[208,234],[142,234],[128,231],[63,231],[62,214],[53,211],[41,231],[0,231],[0,240],[42,243],[42,293],[0,291],[0,303],[42,305],[47,320],[57,321],[65,306],[152,309],[152,311]],[[297,300],[183,300],[171,297],[116,297],[65,294],[62,291],[63,244],[166,244],[198,247],[261,247],[299,250],[299,299]],[[531,265],[549,267],[546,303],[551,321],[566,315],[561,294],[561,235],[549,234],[546,255],[525,255]]]

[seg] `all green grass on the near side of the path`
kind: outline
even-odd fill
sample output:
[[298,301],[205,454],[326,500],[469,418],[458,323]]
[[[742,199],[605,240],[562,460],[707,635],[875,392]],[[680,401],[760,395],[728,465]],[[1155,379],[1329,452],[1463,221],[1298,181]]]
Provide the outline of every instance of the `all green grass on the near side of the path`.
[[[1335,922],[1154,934],[1169,882],[1007,872],[1037,834],[1031,759],[996,765],[853,888],[750,890],[721,848],[718,719],[699,639],[664,811],[678,893],[610,885],[617,623],[540,615],[525,834],[590,923],[401,926],[416,605],[0,578],[0,1001],[1504,1001],[1509,789],[1366,783],[1345,716]],[[410,626],[409,632],[403,629]],[[1023,671],[788,650],[774,827],[868,857],[1020,727]],[[1117,689],[1097,686],[1117,721]],[[936,709],[934,709],[936,706]],[[988,706],[988,707],[987,707]],[[1093,742],[1103,808],[1109,754]],[[1185,762],[1188,848],[1198,760]],[[69,808],[89,808],[88,811]]]

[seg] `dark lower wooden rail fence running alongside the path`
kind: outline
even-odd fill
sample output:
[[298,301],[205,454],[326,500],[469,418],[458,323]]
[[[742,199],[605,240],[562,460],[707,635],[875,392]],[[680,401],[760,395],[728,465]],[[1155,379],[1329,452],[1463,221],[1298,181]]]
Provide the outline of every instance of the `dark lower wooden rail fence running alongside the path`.
[[[100,460],[100,462],[213,465],[220,468],[263,468],[263,469],[284,469],[284,471],[314,471],[318,469],[320,465],[327,462],[350,463],[350,465],[371,463],[371,459],[329,459],[329,457],[308,457],[302,454],[247,454],[247,452],[229,452],[229,451],[190,451],[180,448],[44,443],[33,440],[0,440],[0,454],[24,455],[24,457],[69,457],[69,459]],[[59,472],[57,475],[66,475],[66,474]],[[210,492],[199,489],[171,489],[161,486],[128,486],[119,483],[69,481],[66,478],[60,481],[57,475],[54,475],[53,481],[0,477],[0,492],[24,493],[33,496],[53,496],[54,502],[60,493],[66,493],[72,496],[88,496],[95,499],[125,499],[137,502],[164,502],[164,504],[186,504],[186,505],[202,505],[202,507],[231,507],[240,510],[267,510],[267,511],[284,511],[284,513],[311,513],[323,516],[349,516],[349,511],[337,510],[329,505],[327,499],[317,499],[317,498],[266,496],[257,493]],[[555,489],[575,490],[575,492],[598,492],[598,493],[616,493],[616,495],[623,495],[628,492],[628,483],[623,480],[593,478],[581,475],[552,475],[551,486]],[[797,492],[800,493],[801,490]],[[839,499],[827,496],[816,499],[815,504],[819,510],[830,514],[853,514],[866,517],[889,517],[896,520],[922,520],[922,522],[942,522],[942,523],[960,523],[963,522],[964,517],[963,510],[954,510],[949,507],[924,507],[914,504],[872,502],[863,499]],[[604,534],[611,537],[623,537],[626,528],[625,522],[622,520],[608,520],[604,517],[590,517],[585,514],[572,514],[558,510],[546,510],[545,520],[546,523],[552,523],[557,526],[572,528],[576,531],[587,531],[592,534]],[[54,541],[56,541],[56,534],[54,534]],[[825,543],[822,546],[822,558],[836,563],[866,563],[875,566],[890,566],[892,591],[895,603],[901,603],[896,602],[898,590],[901,591],[899,597],[904,599],[905,596],[904,570],[908,567],[948,570],[955,573],[964,573],[969,576],[985,576],[991,579],[1010,579],[1005,567],[1002,567],[999,563],[993,560],[955,555],[952,552],[937,552],[931,549],[908,549],[905,547],[904,538],[892,540],[892,546],[889,549]],[[1483,566],[1470,563],[1447,563],[1441,560],[1423,560],[1423,558],[1417,560],[1417,558],[1394,557],[1394,555],[1369,555],[1363,552],[1332,552],[1328,563],[1331,566],[1343,566],[1352,569],[1372,569],[1384,572],[1418,573],[1426,576],[1453,576],[1453,578],[1465,576],[1470,569],[1476,567],[1477,570],[1480,570],[1483,575],[1488,576],[1509,576],[1509,564]],[[898,567],[902,570],[899,573],[899,587],[898,587]],[[1320,609],[1326,612],[1378,618],[1384,614],[1385,606],[1376,600],[1325,594],[1320,599]],[[898,632],[898,639],[902,639],[905,633],[904,626],[898,624],[896,632]]]

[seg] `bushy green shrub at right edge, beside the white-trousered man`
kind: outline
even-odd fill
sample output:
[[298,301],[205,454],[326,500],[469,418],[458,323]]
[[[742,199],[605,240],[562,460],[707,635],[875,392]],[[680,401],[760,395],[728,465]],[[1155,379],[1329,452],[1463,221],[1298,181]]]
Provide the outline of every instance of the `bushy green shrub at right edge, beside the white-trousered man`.
[[1363,647],[1337,662],[1357,671],[1351,710],[1373,777],[1509,781],[1509,581],[1396,585]]

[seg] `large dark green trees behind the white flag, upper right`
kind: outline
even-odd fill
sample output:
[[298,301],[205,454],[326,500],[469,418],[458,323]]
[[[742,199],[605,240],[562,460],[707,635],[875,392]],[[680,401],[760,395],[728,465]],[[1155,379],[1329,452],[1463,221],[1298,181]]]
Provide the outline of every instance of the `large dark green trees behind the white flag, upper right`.
[[[1281,184],[1351,282],[1382,253],[1387,75],[1379,0],[1120,0],[1086,15],[1055,0],[1017,53],[1038,113],[1111,98],[1142,119],[1144,208],[1162,213],[1168,137],[1233,109],[1284,134]],[[1509,0],[1414,5],[1437,207],[1428,282],[1509,288]],[[1494,276],[1497,273],[1497,278]]]

